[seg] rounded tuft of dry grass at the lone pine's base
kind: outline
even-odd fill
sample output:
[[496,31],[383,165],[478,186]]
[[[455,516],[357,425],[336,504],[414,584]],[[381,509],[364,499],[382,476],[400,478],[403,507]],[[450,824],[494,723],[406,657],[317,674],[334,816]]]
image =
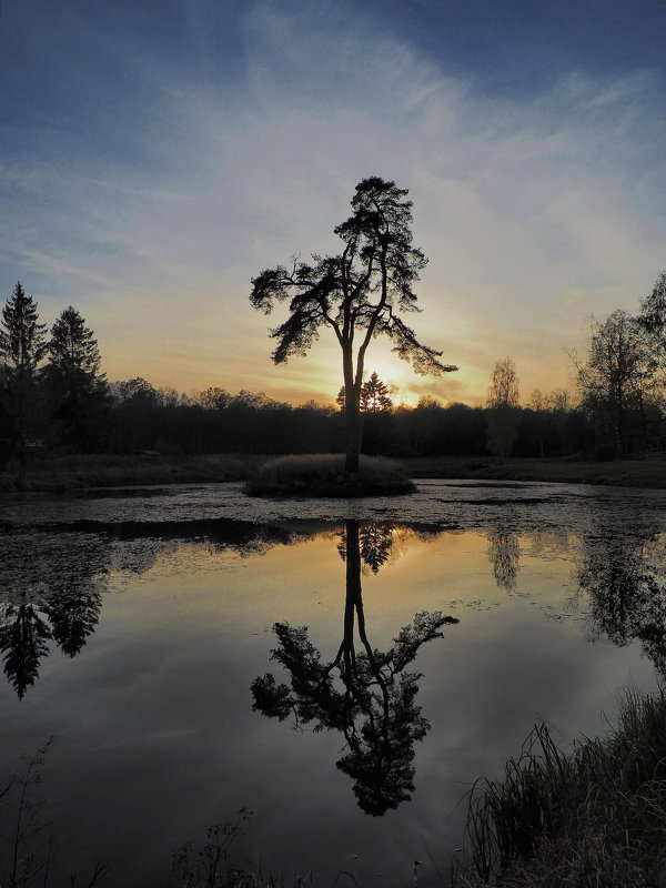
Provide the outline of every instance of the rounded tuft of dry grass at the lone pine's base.
[[397,463],[361,456],[359,472],[344,471],[344,456],[333,453],[270,460],[245,483],[249,496],[352,498],[413,493],[414,484]]

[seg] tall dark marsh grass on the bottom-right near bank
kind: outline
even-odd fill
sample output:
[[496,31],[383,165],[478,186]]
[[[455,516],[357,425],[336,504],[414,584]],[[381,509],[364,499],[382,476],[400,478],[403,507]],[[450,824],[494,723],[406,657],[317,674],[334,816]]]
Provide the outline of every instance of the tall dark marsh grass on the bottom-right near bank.
[[502,783],[471,794],[458,888],[666,886],[666,699],[620,700],[606,737],[567,754],[536,727]]

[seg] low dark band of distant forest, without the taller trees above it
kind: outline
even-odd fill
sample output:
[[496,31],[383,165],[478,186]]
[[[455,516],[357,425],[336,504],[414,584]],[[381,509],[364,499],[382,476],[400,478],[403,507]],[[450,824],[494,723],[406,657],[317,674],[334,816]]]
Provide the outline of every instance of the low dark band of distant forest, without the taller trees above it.
[[[103,393],[78,402],[70,417],[50,411],[47,390],[34,392],[27,440],[29,453],[58,452],[172,455],[208,453],[335,453],[344,447],[343,413],[314,402],[293,406],[263,393],[230,394],[208,389],[194,396],[155,389],[143,379],[104,383]],[[492,453],[491,407],[443,406],[422,398],[415,407],[385,407],[364,413],[363,452],[389,456],[470,455]],[[582,407],[543,404],[516,407],[515,456],[571,456],[595,452],[594,422]],[[636,442],[637,445],[639,442]],[[7,455],[17,455],[8,442]]]

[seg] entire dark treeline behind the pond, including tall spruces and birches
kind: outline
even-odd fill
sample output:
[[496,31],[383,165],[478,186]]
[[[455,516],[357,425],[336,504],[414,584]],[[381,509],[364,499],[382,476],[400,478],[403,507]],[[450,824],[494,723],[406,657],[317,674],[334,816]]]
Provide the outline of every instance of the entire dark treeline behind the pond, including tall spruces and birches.
[[[515,366],[497,362],[487,405],[424,397],[394,406],[372,374],[361,397],[362,450],[387,456],[614,455],[666,447],[666,274],[632,317],[595,322],[577,366],[579,396],[533,392],[518,403]],[[647,320],[646,320],[647,319]],[[32,453],[330,453],[344,448],[344,390],[336,406],[293,406],[263,393],[209,387],[194,395],[141,377],[108,382],[98,343],[71,305],[50,335],[17,284],[0,323],[0,464]]]

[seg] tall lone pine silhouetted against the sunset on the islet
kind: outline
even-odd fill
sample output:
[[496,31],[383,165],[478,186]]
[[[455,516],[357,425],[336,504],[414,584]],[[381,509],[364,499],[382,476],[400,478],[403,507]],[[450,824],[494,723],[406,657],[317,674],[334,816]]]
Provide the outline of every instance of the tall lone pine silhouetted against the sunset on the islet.
[[345,451],[347,472],[357,472],[361,447],[360,402],[365,353],[371,340],[385,333],[393,351],[416,373],[457,370],[443,364],[442,353],[423,345],[398,312],[418,311],[413,284],[426,258],[412,246],[412,202],[395,182],[370,176],[356,185],[352,215],[335,228],[344,248],[336,255],[294,258],[290,269],[278,265],[252,279],[250,301],[269,314],[276,302],[290,300],[290,315],[271,331],[278,341],[275,364],[304,355],[330,327],[342,350],[345,387]]

